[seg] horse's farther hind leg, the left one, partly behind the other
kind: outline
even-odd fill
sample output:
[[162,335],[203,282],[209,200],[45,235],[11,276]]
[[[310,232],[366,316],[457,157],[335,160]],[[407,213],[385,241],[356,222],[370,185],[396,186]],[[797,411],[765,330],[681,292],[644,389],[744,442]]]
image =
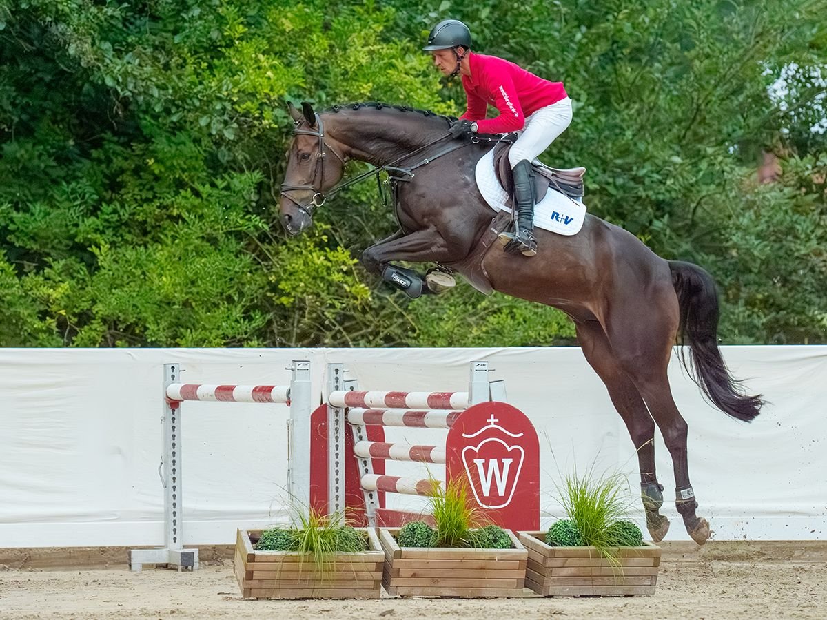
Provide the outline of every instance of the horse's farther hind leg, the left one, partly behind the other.
[[623,418],[635,450],[638,451],[646,526],[653,541],[662,541],[669,530],[669,520],[659,512],[663,504],[663,485],[657,483],[655,475],[655,422],[632,379],[629,379],[629,374],[626,374],[614,357],[609,339],[600,323],[577,323],[576,329],[586,361],[609,390],[609,398]]

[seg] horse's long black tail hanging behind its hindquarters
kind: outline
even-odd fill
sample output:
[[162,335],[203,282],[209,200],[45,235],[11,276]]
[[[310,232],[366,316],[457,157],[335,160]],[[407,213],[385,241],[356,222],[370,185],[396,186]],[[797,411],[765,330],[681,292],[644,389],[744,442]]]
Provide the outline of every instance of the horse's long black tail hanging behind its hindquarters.
[[[724,365],[718,348],[719,304],[715,280],[698,265],[679,260],[670,260],[669,269],[681,310],[677,331],[681,364],[717,408],[729,416],[752,422],[764,401],[760,396],[744,394]],[[688,364],[683,348],[687,339],[691,350]]]

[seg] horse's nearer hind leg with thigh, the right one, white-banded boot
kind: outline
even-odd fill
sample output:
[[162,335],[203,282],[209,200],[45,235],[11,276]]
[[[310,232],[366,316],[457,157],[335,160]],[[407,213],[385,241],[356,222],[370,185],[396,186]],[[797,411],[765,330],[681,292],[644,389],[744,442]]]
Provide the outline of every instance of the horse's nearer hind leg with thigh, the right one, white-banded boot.
[[[638,388],[660,428],[675,470],[675,504],[686,532],[699,545],[710,537],[706,519],[696,515],[698,503],[689,481],[686,436],[689,427],[678,411],[669,386],[667,366],[677,327],[677,303],[671,281],[657,289],[617,303],[606,332],[614,354]],[[619,308],[623,308],[620,311]],[[659,310],[659,312],[658,312]]]

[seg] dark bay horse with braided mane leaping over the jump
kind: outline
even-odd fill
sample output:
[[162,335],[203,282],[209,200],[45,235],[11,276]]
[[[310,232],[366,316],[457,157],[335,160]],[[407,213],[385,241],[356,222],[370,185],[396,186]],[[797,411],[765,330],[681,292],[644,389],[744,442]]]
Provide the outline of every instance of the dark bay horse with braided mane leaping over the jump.
[[[477,189],[474,169],[490,145],[452,140],[449,119],[430,112],[353,104],[316,114],[308,103],[303,106],[303,112],[290,106],[295,137],[280,198],[289,235],[310,226],[314,209],[342,179],[347,160],[393,166],[390,173],[404,179],[394,192],[401,230],[365,250],[362,263],[379,274],[394,260],[438,263],[472,281],[479,279],[481,265],[494,290],[566,312],[638,451],[650,534],[660,541],[669,527],[659,512],[657,423],[672,455],[677,511],[692,539],[703,544],[710,527],[696,515],[687,426],[667,378],[672,346],[684,341],[690,346],[690,362],[683,355],[681,362],[724,413],[749,422],[762,406],[758,396],[741,393],[721,358],[718,296],[710,274],[664,260],[629,232],[591,215],[574,236],[538,229],[533,258],[507,254],[497,244],[480,249],[495,214]],[[469,261],[474,255],[478,259]]]

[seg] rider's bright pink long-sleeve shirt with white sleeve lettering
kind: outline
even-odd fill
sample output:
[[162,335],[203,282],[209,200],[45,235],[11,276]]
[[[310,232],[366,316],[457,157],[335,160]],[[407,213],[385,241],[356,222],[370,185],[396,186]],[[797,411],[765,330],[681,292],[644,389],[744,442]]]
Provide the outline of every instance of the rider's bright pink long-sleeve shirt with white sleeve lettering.
[[[470,53],[468,62],[471,75],[462,76],[468,109],[460,118],[476,121],[480,133],[519,131],[525,117],[568,96],[562,82],[538,78],[508,60]],[[489,103],[500,116],[485,118]]]

